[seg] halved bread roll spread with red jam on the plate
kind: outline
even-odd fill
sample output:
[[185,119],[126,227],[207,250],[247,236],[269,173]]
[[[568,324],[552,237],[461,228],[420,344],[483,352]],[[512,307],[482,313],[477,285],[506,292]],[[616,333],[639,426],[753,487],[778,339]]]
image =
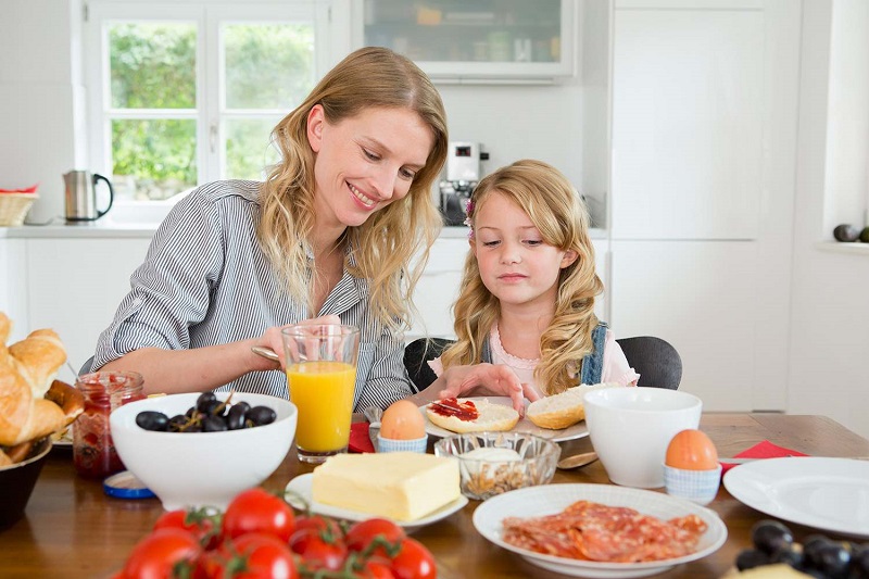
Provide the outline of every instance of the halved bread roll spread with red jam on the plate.
[[451,432],[500,432],[509,430],[519,421],[513,406],[493,404],[486,399],[468,400],[449,398],[426,406],[431,424]]

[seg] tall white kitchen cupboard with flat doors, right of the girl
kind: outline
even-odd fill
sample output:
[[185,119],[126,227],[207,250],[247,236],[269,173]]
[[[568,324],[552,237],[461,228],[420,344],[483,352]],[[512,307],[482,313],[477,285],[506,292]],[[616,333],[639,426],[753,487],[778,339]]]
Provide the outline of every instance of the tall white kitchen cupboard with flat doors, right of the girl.
[[613,326],[672,342],[706,410],[786,407],[799,21],[615,2]]

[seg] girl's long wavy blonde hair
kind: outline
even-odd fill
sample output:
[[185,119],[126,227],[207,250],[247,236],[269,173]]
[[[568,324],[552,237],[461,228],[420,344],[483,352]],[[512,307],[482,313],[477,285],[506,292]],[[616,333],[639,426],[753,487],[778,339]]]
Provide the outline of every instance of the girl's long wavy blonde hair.
[[[582,358],[592,352],[592,330],[597,326],[594,298],[603,291],[594,270],[594,247],[589,238],[585,204],[567,178],[541,161],[524,160],[483,178],[474,190],[468,217],[499,193],[525,211],[544,242],[562,251],[572,250],[577,260],[561,270],[555,314],[540,337],[540,363],[534,370],[545,394],[578,383]],[[454,305],[455,344],[443,352],[443,367],[478,364],[482,344],[500,315],[500,303],[483,285],[474,252],[468,252],[458,299]]]

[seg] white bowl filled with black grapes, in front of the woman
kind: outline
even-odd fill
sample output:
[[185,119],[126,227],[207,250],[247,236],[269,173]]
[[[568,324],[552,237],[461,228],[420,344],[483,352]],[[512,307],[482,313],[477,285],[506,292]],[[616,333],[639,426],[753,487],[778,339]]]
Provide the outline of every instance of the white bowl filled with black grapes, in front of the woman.
[[112,412],[124,466],[163,508],[226,508],[267,479],[287,456],[298,411],[288,400],[243,392],[168,394]]

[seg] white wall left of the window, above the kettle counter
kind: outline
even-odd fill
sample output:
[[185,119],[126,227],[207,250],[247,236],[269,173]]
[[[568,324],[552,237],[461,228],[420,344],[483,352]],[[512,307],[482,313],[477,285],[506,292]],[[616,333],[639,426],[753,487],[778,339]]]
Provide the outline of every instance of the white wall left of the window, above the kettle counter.
[[0,3],[0,187],[39,184],[28,223],[61,217],[62,175],[87,168],[80,10],[80,0]]

